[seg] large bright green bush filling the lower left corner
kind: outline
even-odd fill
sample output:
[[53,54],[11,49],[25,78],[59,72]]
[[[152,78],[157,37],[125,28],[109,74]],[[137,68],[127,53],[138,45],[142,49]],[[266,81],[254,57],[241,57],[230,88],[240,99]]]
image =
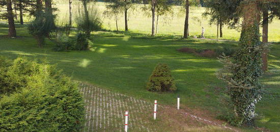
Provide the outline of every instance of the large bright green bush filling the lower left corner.
[[0,131],[80,131],[84,106],[55,66],[0,57]]

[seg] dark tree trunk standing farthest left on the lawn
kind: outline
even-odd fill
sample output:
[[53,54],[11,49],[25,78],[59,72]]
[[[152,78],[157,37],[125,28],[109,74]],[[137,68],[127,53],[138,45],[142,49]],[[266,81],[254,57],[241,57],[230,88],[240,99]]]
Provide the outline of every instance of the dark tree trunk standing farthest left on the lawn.
[[13,8],[11,0],[7,0],[7,12],[8,12],[8,22],[9,22],[9,37],[16,37],[16,28],[13,16]]

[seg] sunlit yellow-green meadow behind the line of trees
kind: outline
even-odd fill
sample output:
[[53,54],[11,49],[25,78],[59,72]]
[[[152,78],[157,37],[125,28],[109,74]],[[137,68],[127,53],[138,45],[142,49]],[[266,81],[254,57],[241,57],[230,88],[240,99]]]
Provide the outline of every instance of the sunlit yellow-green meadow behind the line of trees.
[[[68,1],[54,1],[58,8],[58,21],[67,21],[69,16]],[[77,10],[78,1],[73,2],[73,12]],[[114,16],[107,17],[103,15],[106,10],[106,3],[97,2],[96,8],[100,13],[100,17],[103,21],[103,28],[106,30],[116,30],[116,22]],[[93,6],[93,5],[92,5]],[[128,10],[128,28],[131,32],[151,34],[152,18],[151,15],[147,15],[142,11],[142,4],[135,4],[134,8]],[[182,6],[174,6],[174,15],[160,16],[158,21],[158,35],[175,35],[182,36],[184,32],[185,11]],[[202,32],[202,27],[205,28],[206,38],[216,39],[216,25],[209,25],[209,18],[202,17],[202,13],[206,8],[202,7],[190,7],[189,13],[189,34],[190,36],[199,36]],[[148,14],[151,12],[148,12]],[[124,15],[121,13],[118,16],[119,30],[124,31]],[[262,33],[262,29],[260,29]],[[280,20],[275,18],[272,23],[269,24],[269,41],[280,41]],[[240,32],[234,29],[228,29],[223,27],[223,38],[227,40],[238,41]]]

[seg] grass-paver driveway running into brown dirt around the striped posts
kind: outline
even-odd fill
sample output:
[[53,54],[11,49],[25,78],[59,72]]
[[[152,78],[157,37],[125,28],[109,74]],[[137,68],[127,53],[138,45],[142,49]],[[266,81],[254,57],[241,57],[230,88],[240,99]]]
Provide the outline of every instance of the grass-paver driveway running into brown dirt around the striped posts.
[[86,103],[87,121],[83,131],[123,131],[125,111],[129,111],[129,131],[237,131],[222,126],[220,121],[202,118],[199,113],[161,105],[154,121],[151,102],[85,84],[80,85],[80,92]]

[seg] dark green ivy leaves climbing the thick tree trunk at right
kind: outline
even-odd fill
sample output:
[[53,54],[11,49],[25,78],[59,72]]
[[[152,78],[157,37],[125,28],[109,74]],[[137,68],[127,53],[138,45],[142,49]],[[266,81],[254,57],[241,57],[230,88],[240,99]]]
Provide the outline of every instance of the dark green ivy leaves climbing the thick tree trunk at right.
[[220,61],[224,68],[218,77],[228,84],[231,100],[240,124],[253,125],[257,114],[256,104],[261,99],[261,42],[259,25],[243,27],[240,37],[240,49],[230,60],[225,55]]

